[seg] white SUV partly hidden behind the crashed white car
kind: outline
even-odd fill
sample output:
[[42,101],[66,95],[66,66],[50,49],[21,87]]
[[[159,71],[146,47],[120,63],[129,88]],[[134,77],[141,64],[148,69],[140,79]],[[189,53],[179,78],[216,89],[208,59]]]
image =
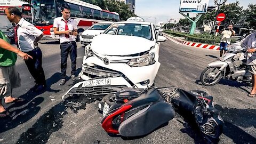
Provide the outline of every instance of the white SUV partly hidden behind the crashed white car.
[[98,23],[95,23],[90,28],[83,31],[83,33],[79,37],[81,44],[84,44],[84,45],[90,44],[94,36],[97,36],[103,33],[112,23],[113,22],[110,22],[110,21],[98,22]]

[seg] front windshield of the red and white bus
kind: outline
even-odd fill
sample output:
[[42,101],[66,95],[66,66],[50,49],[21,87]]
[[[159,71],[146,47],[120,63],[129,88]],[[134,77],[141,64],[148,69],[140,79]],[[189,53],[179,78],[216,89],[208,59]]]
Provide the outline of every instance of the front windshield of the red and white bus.
[[55,2],[52,0],[31,0],[34,23],[36,25],[52,25],[57,17]]

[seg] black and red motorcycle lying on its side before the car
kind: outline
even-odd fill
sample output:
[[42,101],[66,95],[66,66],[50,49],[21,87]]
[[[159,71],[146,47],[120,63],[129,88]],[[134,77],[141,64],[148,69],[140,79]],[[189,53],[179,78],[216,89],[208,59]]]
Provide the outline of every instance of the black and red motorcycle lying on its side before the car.
[[101,124],[108,133],[124,137],[145,135],[174,117],[172,106],[193,115],[207,143],[219,141],[224,122],[214,108],[213,97],[203,91],[187,92],[177,87],[124,88],[108,94],[99,103],[104,116]]

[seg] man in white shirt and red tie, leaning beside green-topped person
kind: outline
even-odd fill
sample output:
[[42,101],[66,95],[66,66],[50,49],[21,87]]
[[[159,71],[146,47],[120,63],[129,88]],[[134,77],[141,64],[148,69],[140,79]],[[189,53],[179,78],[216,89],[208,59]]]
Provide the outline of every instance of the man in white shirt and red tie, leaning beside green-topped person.
[[43,37],[43,32],[22,18],[22,13],[16,7],[8,7],[5,14],[10,22],[14,22],[14,38],[17,47],[33,57],[25,61],[30,74],[35,79],[35,86],[30,90],[39,92],[46,88],[44,70],[42,67],[42,51],[38,47],[38,41]]

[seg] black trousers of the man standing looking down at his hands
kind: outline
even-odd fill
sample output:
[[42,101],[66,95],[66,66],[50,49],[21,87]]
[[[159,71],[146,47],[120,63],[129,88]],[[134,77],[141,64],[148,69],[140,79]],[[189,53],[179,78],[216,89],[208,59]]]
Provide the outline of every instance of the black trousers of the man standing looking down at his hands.
[[71,60],[71,75],[75,75],[76,73],[76,42],[71,43],[62,43],[60,44],[60,55],[61,55],[61,78],[65,79],[67,77],[66,71],[67,71],[67,60],[68,60],[68,54],[70,55]]

